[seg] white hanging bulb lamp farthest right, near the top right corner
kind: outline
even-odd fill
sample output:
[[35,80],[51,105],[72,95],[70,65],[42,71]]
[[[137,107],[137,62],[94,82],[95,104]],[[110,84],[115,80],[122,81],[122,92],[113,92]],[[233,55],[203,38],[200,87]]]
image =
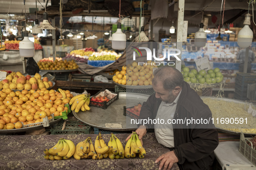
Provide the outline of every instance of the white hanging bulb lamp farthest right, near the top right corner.
[[237,44],[239,47],[242,48],[250,47],[253,41],[253,31],[249,27],[249,25],[251,24],[250,16],[250,13],[247,13],[245,15],[245,19],[243,22],[244,27],[238,32]]

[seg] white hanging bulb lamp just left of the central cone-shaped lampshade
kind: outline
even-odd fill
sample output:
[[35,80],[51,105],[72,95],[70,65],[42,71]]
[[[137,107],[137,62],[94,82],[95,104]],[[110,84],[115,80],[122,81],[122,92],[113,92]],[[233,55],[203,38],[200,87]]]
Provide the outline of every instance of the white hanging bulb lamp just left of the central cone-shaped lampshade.
[[117,23],[117,31],[112,35],[112,48],[114,50],[123,50],[126,47],[126,35],[121,30],[122,24]]

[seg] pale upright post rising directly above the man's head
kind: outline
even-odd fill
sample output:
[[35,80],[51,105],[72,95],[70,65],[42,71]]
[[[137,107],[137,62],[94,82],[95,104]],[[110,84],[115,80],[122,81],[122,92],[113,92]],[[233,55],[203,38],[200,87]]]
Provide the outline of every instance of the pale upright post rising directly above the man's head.
[[[177,33],[176,33],[177,44],[176,44],[176,48],[181,51],[181,54],[182,54],[184,6],[185,6],[185,0],[178,0],[178,19],[177,19]],[[181,59],[181,54],[178,55],[179,59]],[[176,69],[181,71],[181,61],[178,61],[176,59],[175,67],[176,67]]]

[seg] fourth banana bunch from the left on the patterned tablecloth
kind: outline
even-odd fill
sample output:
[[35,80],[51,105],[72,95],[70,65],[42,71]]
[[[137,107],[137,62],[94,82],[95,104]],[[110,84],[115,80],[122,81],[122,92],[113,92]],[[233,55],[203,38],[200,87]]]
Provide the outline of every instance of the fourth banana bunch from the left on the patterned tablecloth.
[[108,157],[110,159],[123,159],[124,158],[124,149],[120,140],[116,135],[111,133],[110,141],[108,142],[108,146],[110,147],[108,151]]

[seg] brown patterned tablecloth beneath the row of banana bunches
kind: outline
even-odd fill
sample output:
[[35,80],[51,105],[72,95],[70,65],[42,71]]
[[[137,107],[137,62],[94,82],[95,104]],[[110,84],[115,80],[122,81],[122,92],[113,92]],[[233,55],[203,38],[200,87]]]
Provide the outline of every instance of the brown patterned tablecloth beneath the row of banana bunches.
[[[126,145],[125,139],[129,134],[115,134],[123,146]],[[108,141],[110,134],[101,135],[104,141]],[[143,147],[147,154],[143,159],[136,156],[135,158],[110,159],[103,158],[101,160],[81,159],[75,160],[71,157],[67,160],[45,160],[44,149],[51,148],[58,142],[60,138],[68,139],[77,145],[87,137],[91,137],[94,143],[96,134],[78,134],[78,135],[4,135],[1,136],[0,148],[2,157],[0,161],[1,169],[47,169],[55,170],[69,168],[71,170],[78,169],[158,169],[159,164],[155,164],[156,159],[162,154],[169,151],[169,148],[164,148],[156,140],[154,133],[147,133],[143,137]],[[15,145],[15,147],[14,147]],[[174,164],[171,170],[179,170],[178,165]]]

